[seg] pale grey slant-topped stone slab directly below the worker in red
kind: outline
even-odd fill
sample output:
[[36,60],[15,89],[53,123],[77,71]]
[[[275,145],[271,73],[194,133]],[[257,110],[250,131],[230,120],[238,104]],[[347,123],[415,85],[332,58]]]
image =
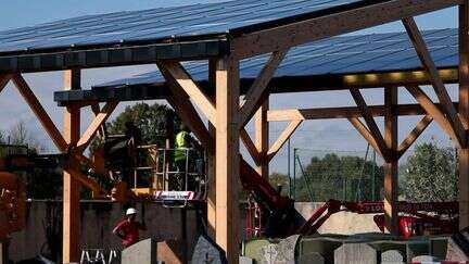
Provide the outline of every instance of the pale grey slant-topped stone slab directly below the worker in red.
[[122,264],[156,264],[156,242],[142,240],[122,252]]

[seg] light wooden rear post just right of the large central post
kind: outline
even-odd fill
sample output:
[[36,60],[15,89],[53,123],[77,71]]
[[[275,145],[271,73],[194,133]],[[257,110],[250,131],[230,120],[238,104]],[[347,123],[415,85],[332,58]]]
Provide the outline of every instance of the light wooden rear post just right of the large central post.
[[264,178],[269,177],[269,161],[267,152],[269,149],[269,125],[267,122],[267,111],[269,109],[269,99],[261,104],[261,108],[255,113],[255,147],[261,156],[261,164],[256,166],[257,173]]

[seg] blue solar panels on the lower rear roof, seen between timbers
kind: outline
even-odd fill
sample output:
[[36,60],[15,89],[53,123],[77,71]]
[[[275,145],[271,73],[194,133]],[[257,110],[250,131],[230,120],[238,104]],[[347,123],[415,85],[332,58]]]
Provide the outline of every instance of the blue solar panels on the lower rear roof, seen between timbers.
[[[458,65],[458,30],[435,29],[422,32],[426,43],[438,67]],[[267,56],[243,60],[241,78],[255,78]],[[206,80],[206,62],[185,64],[195,80]],[[355,74],[393,72],[421,68],[421,63],[406,33],[386,33],[340,36],[310,42],[291,49],[277,68],[275,77],[319,76],[328,74]],[[100,85],[145,85],[163,83],[159,71]]]

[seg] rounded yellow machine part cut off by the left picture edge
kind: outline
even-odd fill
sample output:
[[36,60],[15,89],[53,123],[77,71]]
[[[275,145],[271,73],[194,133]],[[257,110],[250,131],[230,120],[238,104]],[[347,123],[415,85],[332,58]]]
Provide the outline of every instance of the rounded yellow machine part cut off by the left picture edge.
[[0,241],[26,224],[26,190],[18,177],[0,172]]

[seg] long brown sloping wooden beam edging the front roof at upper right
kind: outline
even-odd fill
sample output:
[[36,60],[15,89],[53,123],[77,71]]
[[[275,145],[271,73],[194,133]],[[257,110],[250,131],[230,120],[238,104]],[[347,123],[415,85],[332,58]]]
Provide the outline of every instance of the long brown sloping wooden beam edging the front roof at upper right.
[[461,3],[462,0],[392,0],[331,15],[243,34],[231,41],[239,59],[398,21]]

